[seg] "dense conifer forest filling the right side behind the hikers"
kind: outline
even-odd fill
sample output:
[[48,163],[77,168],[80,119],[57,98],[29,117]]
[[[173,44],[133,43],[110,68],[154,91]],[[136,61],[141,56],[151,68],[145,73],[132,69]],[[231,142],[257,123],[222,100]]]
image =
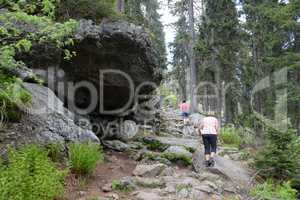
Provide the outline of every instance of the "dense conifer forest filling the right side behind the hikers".
[[[187,98],[189,75],[189,8],[188,1],[174,1],[174,24],[177,30],[172,44],[172,74],[178,80],[182,98]],[[201,111],[217,111],[228,123],[254,125],[250,105],[258,113],[274,118],[276,85],[274,73],[286,69],[288,88],[287,113],[299,129],[299,2],[298,1],[201,1],[194,2],[197,28],[197,84],[212,82],[218,98],[199,99]],[[200,4],[200,5],[199,5]],[[271,86],[253,93],[262,79],[270,77]],[[229,87],[226,92],[222,88]],[[212,94],[209,85],[199,87],[198,94]],[[214,92],[213,92],[214,94]],[[207,95],[206,95],[207,96]],[[224,102],[223,102],[224,101]],[[223,113],[223,114],[222,114]],[[250,122],[250,121],[251,122]]]

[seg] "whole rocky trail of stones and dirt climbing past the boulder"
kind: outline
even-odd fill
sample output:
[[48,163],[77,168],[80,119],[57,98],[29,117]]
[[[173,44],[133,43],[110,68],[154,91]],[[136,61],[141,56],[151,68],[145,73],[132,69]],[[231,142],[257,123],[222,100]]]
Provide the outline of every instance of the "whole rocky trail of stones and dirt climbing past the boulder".
[[[200,117],[192,115],[191,121]],[[178,113],[164,112],[161,127],[159,136],[141,126],[134,141],[111,141],[109,147],[122,152],[107,150],[105,162],[86,181],[71,176],[67,199],[247,199],[251,173],[234,161],[237,149],[219,147],[216,166],[205,168],[201,140]]]

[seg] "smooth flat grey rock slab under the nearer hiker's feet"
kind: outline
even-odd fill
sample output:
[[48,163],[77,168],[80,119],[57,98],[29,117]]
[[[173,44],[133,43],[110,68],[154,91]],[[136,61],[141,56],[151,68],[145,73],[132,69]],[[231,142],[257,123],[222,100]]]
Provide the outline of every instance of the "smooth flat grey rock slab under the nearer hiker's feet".
[[216,156],[215,161],[215,167],[206,168],[204,166],[203,150],[198,149],[193,155],[193,166],[195,171],[203,172],[208,170],[213,174],[232,181],[234,184],[242,188],[248,188],[251,181],[250,172],[248,170],[240,166],[238,162],[234,162],[220,156]]

